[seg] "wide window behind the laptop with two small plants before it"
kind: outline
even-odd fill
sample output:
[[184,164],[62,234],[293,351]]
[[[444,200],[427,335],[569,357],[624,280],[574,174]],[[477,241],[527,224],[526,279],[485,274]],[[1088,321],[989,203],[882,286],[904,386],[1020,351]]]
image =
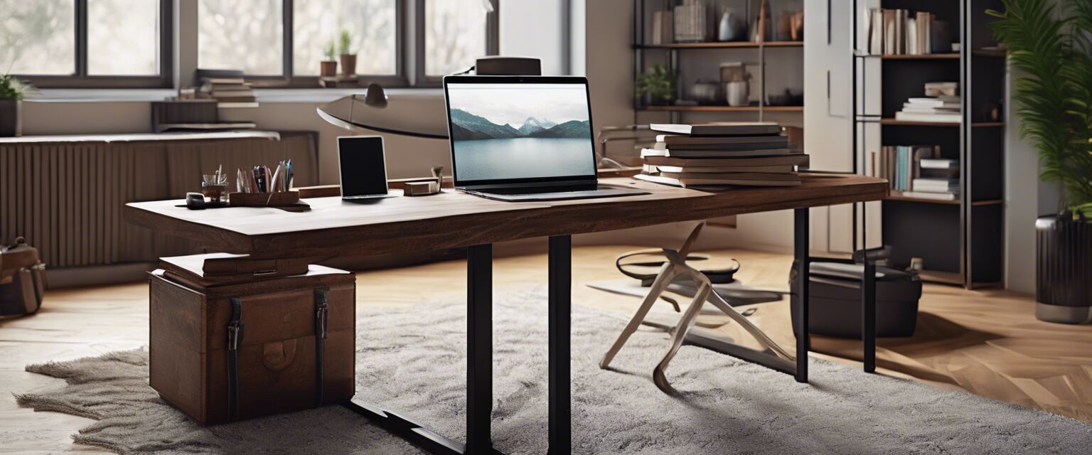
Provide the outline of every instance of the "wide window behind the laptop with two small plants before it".
[[434,86],[496,53],[496,1],[200,0],[198,64],[242,70],[262,86],[317,87],[329,46],[341,64],[346,32],[364,81]]

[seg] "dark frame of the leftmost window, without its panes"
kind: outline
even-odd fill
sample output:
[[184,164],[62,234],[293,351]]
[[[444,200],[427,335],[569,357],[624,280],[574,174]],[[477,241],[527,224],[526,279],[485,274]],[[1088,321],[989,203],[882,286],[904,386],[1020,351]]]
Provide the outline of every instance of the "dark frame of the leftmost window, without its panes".
[[167,88],[174,86],[174,2],[159,0],[158,74],[87,74],[87,0],[73,0],[75,9],[75,71],[73,74],[15,74],[38,88]]

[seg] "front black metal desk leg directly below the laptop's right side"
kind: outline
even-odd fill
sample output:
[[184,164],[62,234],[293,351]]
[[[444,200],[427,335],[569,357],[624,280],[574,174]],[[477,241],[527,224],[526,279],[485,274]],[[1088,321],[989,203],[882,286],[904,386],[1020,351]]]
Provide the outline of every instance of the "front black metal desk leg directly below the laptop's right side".
[[572,237],[549,238],[549,454],[572,450]]

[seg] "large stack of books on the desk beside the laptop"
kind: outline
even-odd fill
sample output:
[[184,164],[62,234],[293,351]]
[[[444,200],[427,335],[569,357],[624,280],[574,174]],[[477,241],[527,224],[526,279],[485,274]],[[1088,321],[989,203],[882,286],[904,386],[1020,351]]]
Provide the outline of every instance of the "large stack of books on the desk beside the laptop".
[[796,166],[808,156],[792,153],[788,137],[774,122],[651,124],[652,148],[641,151],[643,166],[636,178],[684,188],[731,185],[795,187]]

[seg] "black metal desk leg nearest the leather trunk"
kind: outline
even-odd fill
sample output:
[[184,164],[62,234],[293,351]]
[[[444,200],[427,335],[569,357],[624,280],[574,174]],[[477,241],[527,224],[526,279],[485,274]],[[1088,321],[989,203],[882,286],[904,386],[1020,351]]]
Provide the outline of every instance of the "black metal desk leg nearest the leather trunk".
[[466,249],[466,453],[491,451],[492,246]]

